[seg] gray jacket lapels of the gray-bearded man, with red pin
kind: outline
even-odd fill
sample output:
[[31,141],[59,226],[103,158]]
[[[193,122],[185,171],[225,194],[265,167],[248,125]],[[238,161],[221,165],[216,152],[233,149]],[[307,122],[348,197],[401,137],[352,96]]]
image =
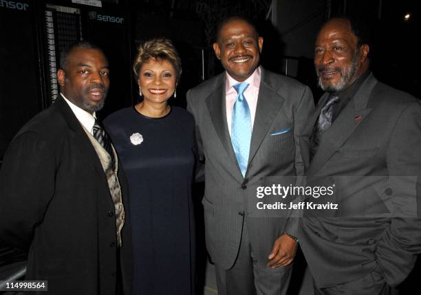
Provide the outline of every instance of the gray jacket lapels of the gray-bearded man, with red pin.
[[[370,75],[365,83],[361,85],[352,100],[343,109],[341,114],[336,118],[332,127],[325,131],[320,142],[319,149],[308,168],[307,175],[315,175],[317,171],[332,157],[332,155],[345,143],[345,141],[352,135],[354,130],[358,127],[371,112],[371,108],[367,107],[369,96],[377,80]],[[323,97],[322,97],[323,98]],[[327,95],[321,100],[321,104],[317,108],[316,118],[319,116],[321,107],[323,107]],[[314,119],[314,118],[312,118]],[[316,119],[312,121],[316,122]],[[312,125],[314,126],[314,124]]]

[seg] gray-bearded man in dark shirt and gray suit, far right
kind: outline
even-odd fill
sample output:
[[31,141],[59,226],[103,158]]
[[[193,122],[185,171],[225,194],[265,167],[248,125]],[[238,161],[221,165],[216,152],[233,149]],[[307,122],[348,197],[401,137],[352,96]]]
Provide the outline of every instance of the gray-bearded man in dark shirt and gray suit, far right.
[[306,174],[309,182],[334,183],[338,204],[305,210],[301,223],[316,294],[389,294],[421,251],[421,104],[369,72],[361,28],[331,19],[315,44],[326,94],[308,126]]

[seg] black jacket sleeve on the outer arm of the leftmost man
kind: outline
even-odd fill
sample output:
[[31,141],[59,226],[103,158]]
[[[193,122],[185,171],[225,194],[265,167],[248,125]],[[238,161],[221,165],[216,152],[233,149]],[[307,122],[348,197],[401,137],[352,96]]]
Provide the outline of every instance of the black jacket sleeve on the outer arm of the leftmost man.
[[11,142],[0,171],[0,243],[29,248],[54,195],[53,147],[34,132]]

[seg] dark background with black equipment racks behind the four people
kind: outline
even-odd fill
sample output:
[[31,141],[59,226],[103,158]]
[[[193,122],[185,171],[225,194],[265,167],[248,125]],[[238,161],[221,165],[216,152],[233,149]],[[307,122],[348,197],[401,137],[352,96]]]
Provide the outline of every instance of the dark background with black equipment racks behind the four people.
[[[372,31],[371,69],[389,85],[420,98],[420,10],[416,1],[400,0],[109,0],[102,8],[71,0],[19,0],[13,9],[0,4],[0,161],[8,143],[32,116],[54,100],[49,54],[68,43],[85,39],[105,50],[111,66],[111,89],[99,116],[138,101],[131,64],[136,48],[155,36],[172,39],[180,52],[183,74],[173,105],[185,106],[185,93],[222,67],[212,43],[215,26],[230,14],[255,20],[264,38],[261,64],[309,85],[317,100],[312,62],[313,44],[321,23],[336,14],[360,17]],[[10,2],[10,1],[9,1]],[[20,6],[17,3],[21,3]],[[57,12],[49,6],[74,8],[78,13]],[[50,50],[45,13],[53,14],[55,43]],[[411,13],[409,21],[404,14]],[[96,15],[121,17],[121,23],[98,21]],[[92,17],[94,15],[94,17]],[[70,22],[69,22],[70,19]],[[73,22],[73,23],[72,23]],[[75,25],[76,24],[76,25]],[[74,32],[73,32],[74,31]],[[53,61],[54,63],[54,61]],[[53,94],[54,92],[54,94]],[[0,162],[1,164],[1,162]]]

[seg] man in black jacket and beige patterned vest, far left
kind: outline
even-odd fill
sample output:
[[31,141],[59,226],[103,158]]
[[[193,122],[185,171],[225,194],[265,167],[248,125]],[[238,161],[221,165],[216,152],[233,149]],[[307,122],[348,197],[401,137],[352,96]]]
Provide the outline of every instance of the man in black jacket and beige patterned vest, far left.
[[107,58],[78,43],[60,65],[61,95],[4,158],[0,243],[28,249],[25,279],[47,281],[46,294],[130,294],[127,184],[95,113],[109,88]]

